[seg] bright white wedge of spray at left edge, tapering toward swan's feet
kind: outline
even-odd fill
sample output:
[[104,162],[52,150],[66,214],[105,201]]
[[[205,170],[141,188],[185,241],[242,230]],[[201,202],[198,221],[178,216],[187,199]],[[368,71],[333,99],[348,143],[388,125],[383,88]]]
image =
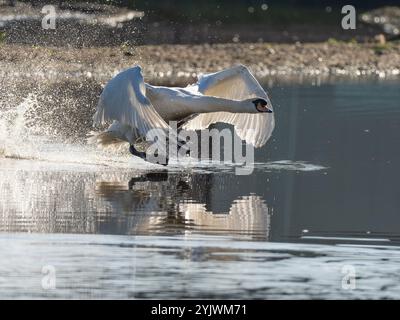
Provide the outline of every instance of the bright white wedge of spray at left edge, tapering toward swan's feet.
[[[43,119],[54,116],[52,111],[42,114],[35,94],[29,94],[15,108],[0,111],[0,157],[35,160],[63,166],[148,168],[140,159],[127,152],[107,152],[84,143],[68,143],[51,127],[43,126]],[[32,162],[32,164],[33,164]],[[134,162],[134,163],[133,163]]]

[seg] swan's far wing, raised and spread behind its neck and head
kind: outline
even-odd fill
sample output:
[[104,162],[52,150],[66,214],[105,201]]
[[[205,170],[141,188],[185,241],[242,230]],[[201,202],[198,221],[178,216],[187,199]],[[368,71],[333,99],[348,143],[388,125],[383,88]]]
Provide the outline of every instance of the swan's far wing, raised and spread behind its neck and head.
[[[272,109],[267,93],[243,65],[203,75],[196,85],[188,89],[208,96],[233,100],[263,98],[268,102],[268,108]],[[217,122],[233,125],[237,135],[256,148],[262,147],[268,141],[275,126],[273,113],[212,112],[195,115],[183,124],[182,128],[203,130]]]

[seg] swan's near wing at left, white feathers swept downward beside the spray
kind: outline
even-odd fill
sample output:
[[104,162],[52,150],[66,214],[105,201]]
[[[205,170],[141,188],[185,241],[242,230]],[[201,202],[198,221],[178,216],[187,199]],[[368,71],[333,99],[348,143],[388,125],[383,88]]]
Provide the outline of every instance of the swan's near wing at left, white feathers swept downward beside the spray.
[[107,83],[93,120],[95,124],[116,120],[122,125],[136,128],[138,136],[146,136],[152,129],[160,129],[159,132],[169,130],[168,124],[146,97],[146,86],[139,66],[119,73]]

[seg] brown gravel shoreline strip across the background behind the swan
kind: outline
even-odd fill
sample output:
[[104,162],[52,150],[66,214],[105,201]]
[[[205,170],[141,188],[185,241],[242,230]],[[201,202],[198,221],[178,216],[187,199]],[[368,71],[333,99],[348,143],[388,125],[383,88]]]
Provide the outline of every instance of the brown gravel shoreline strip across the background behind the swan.
[[158,84],[193,82],[199,73],[235,64],[269,76],[400,76],[400,43],[385,45],[328,41],[310,44],[145,45],[57,48],[0,45],[0,76],[13,78],[89,77],[105,81],[140,64],[146,80]]

